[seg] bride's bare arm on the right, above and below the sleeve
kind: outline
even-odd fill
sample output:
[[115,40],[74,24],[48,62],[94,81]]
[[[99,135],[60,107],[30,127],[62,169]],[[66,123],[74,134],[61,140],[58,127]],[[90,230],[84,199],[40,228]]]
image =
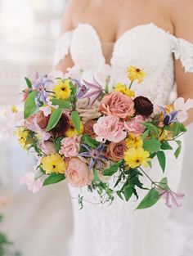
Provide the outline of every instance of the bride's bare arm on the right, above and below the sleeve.
[[[175,36],[177,38],[184,38],[192,43],[191,52],[193,53],[193,1],[174,1],[171,10],[173,10],[172,13]],[[193,56],[191,52],[190,60],[192,61],[193,65]],[[175,63],[175,77],[177,81],[177,96],[185,99],[193,99],[193,73],[185,73],[181,61],[179,60]],[[193,110],[191,109],[189,110],[189,118],[186,121],[186,125],[190,124],[192,121]]]

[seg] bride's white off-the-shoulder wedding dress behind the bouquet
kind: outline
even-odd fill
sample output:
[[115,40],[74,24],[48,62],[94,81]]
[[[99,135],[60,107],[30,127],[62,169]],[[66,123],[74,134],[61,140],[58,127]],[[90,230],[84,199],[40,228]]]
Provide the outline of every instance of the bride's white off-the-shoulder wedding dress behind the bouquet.
[[[79,26],[61,35],[56,48],[55,64],[71,54],[75,65],[83,70],[102,70],[105,57],[96,30],[88,24]],[[124,33],[116,43],[110,60],[114,82],[128,83],[126,68],[136,65],[148,74],[135,90],[149,93],[155,104],[164,105],[171,101],[170,96],[175,84],[174,58],[180,59],[186,72],[193,72],[193,44],[176,38],[164,29],[150,23],[139,25]],[[171,102],[170,102],[171,103]],[[159,181],[163,173],[159,164],[154,162],[149,175]],[[182,174],[182,157],[174,159],[168,152],[167,168],[164,176],[173,189],[177,187]],[[142,182],[150,185],[145,177]],[[72,197],[79,190],[70,188]],[[140,199],[146,191],[140,191]],[[85,200],[96,203],[92,194],[83,189]],[[170,248],[173,236],[167,228],[170,209],[163,200],[155,207],[135,210],[138,202],[133,197],[128,203],[119,198],[110,206],[85,203],[79,211],[77,200],[74,205],[74,240],[67,256],[189,256],[174,253]],[[66,255],[66,254],[64,254]]]

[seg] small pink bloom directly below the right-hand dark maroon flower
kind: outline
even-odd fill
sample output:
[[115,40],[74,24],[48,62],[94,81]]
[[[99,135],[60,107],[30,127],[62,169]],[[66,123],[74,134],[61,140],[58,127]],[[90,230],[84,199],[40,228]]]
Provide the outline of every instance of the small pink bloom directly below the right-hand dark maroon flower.
[[132,120],[124,122],[124,128],[127,132],[131,132],[137,137],[145,130],[145,127],[141,124],[142,122],[144,122],[143,117],[141,115],[137,115]]

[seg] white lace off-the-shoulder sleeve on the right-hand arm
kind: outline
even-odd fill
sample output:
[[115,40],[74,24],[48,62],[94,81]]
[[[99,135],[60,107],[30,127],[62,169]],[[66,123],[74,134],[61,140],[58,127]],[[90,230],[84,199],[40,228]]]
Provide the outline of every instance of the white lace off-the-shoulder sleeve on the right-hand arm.
[[174,38],[173,53],[182,62],[185,72],[193,72],[193,43],[182,38]]

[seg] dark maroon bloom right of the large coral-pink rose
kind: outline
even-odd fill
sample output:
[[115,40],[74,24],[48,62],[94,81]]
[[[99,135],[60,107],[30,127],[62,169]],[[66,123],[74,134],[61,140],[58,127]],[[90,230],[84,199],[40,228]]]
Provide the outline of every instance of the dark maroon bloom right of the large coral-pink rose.
[[154,106],[150,102],[150,100],[146,97],[136,97],[134,99],[134,108],[136,110],[137,115],[146,115],[149,116],[154,111]]

